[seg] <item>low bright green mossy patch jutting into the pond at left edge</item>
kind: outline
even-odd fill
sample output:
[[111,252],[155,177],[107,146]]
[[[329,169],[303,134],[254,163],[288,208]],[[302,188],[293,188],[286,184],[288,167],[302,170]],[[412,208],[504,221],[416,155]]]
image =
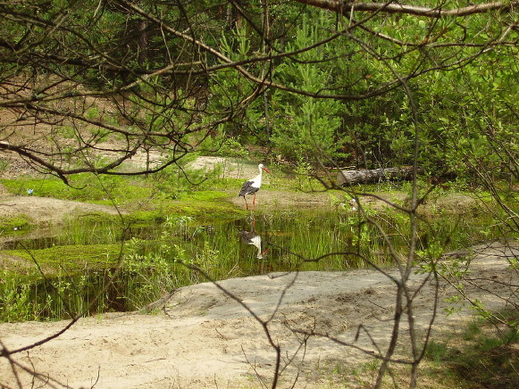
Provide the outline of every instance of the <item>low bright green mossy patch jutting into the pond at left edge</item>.
[[75,273],[81,269],[105,269],[117,264],[121,244],[78,244],[54,246],[41,250],[7,250],[5,254],[30,263],[37,262],[42,269],[53,272],[65,269]]

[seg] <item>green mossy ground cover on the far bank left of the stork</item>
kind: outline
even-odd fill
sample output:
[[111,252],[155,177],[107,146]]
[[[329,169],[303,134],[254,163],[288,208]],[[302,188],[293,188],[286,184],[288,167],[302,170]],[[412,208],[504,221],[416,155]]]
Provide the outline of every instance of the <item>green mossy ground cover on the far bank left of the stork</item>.
[[[213,189],[220,185],[222,189],[226,188],[227,180],[218,178],[218,174],[218,171],[168,168],[155,173],[153,178],[78,175],[71,179],[71,186],[57,178],[3,179],[1,182],[14,195],[28,195],[27,191],[32,189],[32,195],[41,197],[123,206],[126,211],[135,210],[131,215],[123,215],[123,219],[135,223],[139,220],[161,219],[164,213],[171,212],[188,212],[192,216],[219,212],[236,214],[238,210],[230,203],[222,201],[225,194],[205,191],[205,188]],[[237,186],[241,184],[241,180],[232,182]],[[195,189],[197,190],[194,191]],[[146,206],[149,209],[146,210]],[[88,221],[87,219],[82,220]],[[103,217],[98,214],[90,216],[90,219],[107,221],[120,217]],[[29,219],[22,216],[3,219],[2,224],[6,230],[27,228]]]

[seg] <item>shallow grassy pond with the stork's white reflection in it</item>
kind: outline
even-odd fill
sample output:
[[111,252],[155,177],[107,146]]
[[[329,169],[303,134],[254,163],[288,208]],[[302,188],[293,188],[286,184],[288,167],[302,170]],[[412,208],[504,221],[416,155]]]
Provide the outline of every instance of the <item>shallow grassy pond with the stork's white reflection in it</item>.
[[[405,255],[406,234],[401,231],[406,231],[406,217],[374,217],[386,229],[391,244]],[[455,231],[445,228],[445,220],[440,225],[437,230],[452,244]],[[459,222],[455,226],[464,230],[456,236],[468,238],[466,227]],[[419,244],[420,250],[425,249],[431,237],[424,234]],[[105,253],[107,245],[111,254]],[[72,261],[74,266],[67,258],[58,258],[53,271],[38,263],[39,253],[46,252],[45,258],[54,261],[54,257],[68,256],[63,253],[67,248],[80,250],[79,256],[70,254],[78,258]],[[362,258],[379,266],[394,265],[377,229],[350,209],[255,211],[244,219],[208,219],[204,223],[172,217],[128,229],[113,223],[79,223],[52,237],[33,234],[30,239],[4,244],[4,250],[21,249],[29,252],[45,276],[36,265],[26,276],[7,277],[4,272],[0,283],[2,321],[139,310],[180,286],[205,282],[207,277],[218,280],[297,269],[355,269],[365,266]],[[82,255],[96,250],[105,260],[78,266]],[[114,261],[119,258],[122,260]]]

